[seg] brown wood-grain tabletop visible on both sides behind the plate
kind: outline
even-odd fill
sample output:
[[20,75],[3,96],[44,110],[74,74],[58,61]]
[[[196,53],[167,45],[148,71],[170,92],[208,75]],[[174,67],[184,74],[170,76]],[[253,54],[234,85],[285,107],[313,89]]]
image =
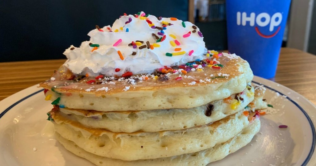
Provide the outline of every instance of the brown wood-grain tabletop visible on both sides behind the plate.
[[[65,59],[0,63],[0,101],[48,79]],[[282,48],[273,81],[306,97],[316,105],[316,56]]]

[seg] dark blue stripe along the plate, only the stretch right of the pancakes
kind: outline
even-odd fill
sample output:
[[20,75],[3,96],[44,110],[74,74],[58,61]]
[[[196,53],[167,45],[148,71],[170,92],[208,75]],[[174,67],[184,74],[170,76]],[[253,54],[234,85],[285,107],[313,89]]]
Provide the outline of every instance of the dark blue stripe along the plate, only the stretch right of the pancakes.
[[303,164],[302,164],[302,166],[307,165],[308,161],[309,161],[309,160],[312,158],[312,156],[313,156],[313,153],[314,153],[314,151],[315,151],[315,145],[316,145],[315,126],[314,126],[314,124],[313,124],[311,118],[307,115],[307,113],[305,112],[305,110],[304,110],[300,105],[298,105],[295,101],[293,101],[293,100],[292,100],[291,98],[289,98],[287,95],[284,95],[283,93],[281,93],[281,92],[279,92],[279,91],[277,91],[277,90],[275,90],[275,89],[273,89],[273,88],[270,88],[270,87],[268,87],[268,86],[266,86],[266,85],[264,85],[264,84],[261,84],[261,83],[255,82],[255,81],[252,81],[252,82],[255,83],[255,84],[258,84],[258,85],[262,85],[262,86],[264,86],[264,87],[267,88],[267,89],[273,90],[273,91],[279,93],[280,95],[286,96],[286,98],[287,98],[289,101],[291,101],[293,104],[295,104],[295,106],[296,106],[297,108],[299,108],[299,109],[303,112],[303,114],[305,115],[306,119],[308,120],[309,125],[311,126],[312,135],[313,135],[313,138],[312,138],[313,142],[312,142],[311,150],[309,151],[309,153],[308,153],[308,155],[307,155],[307,158],[305,159],[305,161],[304,161]]

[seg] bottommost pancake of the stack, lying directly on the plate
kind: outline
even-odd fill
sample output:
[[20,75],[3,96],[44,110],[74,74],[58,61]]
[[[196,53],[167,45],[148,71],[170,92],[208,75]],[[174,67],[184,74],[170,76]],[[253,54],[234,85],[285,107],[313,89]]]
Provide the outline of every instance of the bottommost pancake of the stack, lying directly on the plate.
[[221,160],[227,155],[234,153],[246,144],[248,144],[253,136],[259,132],[260,120],[254,119],[246,128],[230,140],[217,144],[212,148],[205,149],[190,154],[183,154],[174,157],[157,158],[151,160],[136,160],[136,161],[123,161],[119,159],[112,159],[107,157],[97,156],[89,153],[75,142],[63,138],[60,134],[56,133],[56,139],[64,145],[65,149],[74,153],[75,155],[85,158],[98,166],[191,166],[191,165],[207,165],[208,163]]

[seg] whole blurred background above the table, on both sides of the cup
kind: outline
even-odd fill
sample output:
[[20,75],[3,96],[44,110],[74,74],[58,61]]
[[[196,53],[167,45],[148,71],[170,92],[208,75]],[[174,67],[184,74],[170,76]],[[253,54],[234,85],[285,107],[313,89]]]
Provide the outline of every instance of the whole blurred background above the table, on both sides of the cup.
[[[64,50],[89,40],[95,25],[112,25],[123,13],[139,11],[193,22],[208,49],[227,49],[225,0],[2,0],[0,62],[65,58]],[[316,54],[314,0],[292,0],[282,46]]]

